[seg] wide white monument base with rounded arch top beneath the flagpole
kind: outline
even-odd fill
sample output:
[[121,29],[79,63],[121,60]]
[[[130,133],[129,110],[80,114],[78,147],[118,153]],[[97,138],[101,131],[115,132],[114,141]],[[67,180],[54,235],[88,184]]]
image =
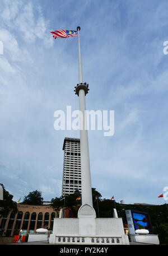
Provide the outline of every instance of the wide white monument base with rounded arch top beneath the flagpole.
[[93,207],[84,204],[78,218],[54,218],[50,244],[129,244],[122,218],[96,218]]

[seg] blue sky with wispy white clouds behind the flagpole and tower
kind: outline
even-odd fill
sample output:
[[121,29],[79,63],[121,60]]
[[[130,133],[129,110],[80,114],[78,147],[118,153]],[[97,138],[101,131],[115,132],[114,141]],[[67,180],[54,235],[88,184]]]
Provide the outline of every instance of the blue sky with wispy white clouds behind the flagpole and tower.
[[1,0],[0,183],[14,201],[36,189],[45,201],[61,195],[64,137],[80,133],[55,131],[54,112],[78,109],[78,39],[50,31],[81,26],[86,108],[115,113],[114,136],[88,131],[92,187],[116,202],[164,203],[167,9],[167,0]]

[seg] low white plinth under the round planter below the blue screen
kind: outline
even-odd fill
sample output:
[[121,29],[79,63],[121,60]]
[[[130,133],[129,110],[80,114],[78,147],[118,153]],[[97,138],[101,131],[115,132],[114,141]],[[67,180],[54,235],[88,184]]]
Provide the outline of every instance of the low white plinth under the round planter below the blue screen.
[[145,244],[160,244],[158,235],[130,235],[130,241]]

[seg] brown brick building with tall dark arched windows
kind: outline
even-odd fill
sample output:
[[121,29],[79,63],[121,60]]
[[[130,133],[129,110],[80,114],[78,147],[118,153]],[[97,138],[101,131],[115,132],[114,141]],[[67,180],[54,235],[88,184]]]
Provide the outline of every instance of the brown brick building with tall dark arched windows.
[[59,215],[49,204],[18,203],[17,209],[16,214],[10,212],[8,216],[3,216],[0,219],[0,236],[13,236],[21,227],[24,234],[35,233],[39,227],[53,230],[54,218]]

